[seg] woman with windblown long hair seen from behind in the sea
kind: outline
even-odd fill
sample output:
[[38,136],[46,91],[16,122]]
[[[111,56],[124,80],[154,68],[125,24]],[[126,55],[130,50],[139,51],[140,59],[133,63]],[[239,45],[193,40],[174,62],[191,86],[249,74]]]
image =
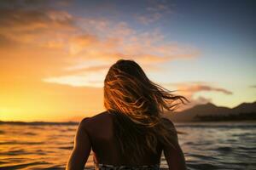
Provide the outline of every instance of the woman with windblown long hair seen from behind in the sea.
[[[104,81],[104,111],[79,123],[67,169],[84,169],[92,149],[99,169],[186,169],[172,122],[163,118],[183,96],[151,82],[135,61],[120,59]],[[177,103],[177,101],[180,101]]]

